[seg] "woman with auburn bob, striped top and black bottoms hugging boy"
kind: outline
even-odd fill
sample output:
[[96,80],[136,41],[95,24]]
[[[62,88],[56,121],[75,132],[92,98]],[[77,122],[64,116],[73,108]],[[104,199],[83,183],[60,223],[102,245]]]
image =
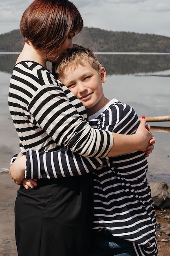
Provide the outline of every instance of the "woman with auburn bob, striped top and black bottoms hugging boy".
[[[114,134],[113,146],[113,133],[91,128],[82,103],[46,69],[46,61],[55,62],[73,46],[82,27],[79,11],[68,0],[35,0],[26,9],[20,22],[25,44],[10,81],[9,110],[24,152],[65,147],[75,152],[75,158],[93,157],[96,167],[104,158],[95,157],[145,151],[155,139],[143,121],[135,135]],[[66,154],[60,153],[61,162]],[[73,155],[68,154],[68,162],[70,158]],[[15,202],[18,255],[86,255],[92,195],[90,174],[38,180],[35,189],[21,186]]]

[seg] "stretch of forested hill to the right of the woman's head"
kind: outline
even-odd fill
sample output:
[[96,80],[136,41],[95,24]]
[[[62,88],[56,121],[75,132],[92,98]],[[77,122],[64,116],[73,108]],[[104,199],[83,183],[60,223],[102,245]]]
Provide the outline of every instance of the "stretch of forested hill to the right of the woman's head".
[[170,37],[84,27],[75,43],[94,52],[170,52]]

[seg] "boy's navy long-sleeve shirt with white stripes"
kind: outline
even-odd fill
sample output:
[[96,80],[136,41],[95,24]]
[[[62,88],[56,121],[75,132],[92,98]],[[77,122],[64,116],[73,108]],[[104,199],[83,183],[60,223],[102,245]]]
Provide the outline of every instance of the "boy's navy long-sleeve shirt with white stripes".
[[[132,134],[139,125],[135,111],[116,99],[89,117],[88,121],[93,128],[121,134]],[[57,160],[55,154],[57,152],[39,155],[38,152],[30,150],[27,153],[27,172],[31,173],[31,162],[38,161],[49,176],[50,173],[56,176],[64,173],[62,163]],[[77,161],[77,166],[82,164],[83,159],[82,157],[81,161]],[[53,164],[50,163],[49,168],[44,170],[44,165],[47,166],[50,161]],[[73,175],[77,175],[76,161],[73,162],[73,166],[69,164]],[[95,169],[93,229],[97,231],[108,229],[113,236],[132,241],[138,256],[157,256],[156,219],[150,186],[146,178],[147,170],[145,153],[140,151],[110,157],[103,166]]]

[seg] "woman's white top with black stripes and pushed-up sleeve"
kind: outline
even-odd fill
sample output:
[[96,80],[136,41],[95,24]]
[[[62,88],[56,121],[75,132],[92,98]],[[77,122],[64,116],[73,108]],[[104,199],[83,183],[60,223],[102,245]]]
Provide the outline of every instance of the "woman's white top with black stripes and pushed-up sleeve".
[[80,155],[104,157],[113,146],[111,132],[91,128],[82,103],[38,63],[15,65],[9,110],[24,152],[66,147]]

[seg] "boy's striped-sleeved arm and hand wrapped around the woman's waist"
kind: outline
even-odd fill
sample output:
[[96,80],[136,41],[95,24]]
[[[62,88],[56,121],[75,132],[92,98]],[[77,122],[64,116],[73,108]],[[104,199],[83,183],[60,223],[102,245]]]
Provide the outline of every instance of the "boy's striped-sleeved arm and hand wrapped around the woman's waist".
[[29,150],[26,155],[15,155],[11,162],[10,175],[15,183],[21,184],[24,177],[29,180],[84,175],[103,165],[106,158],[83,157],[70,150]]

